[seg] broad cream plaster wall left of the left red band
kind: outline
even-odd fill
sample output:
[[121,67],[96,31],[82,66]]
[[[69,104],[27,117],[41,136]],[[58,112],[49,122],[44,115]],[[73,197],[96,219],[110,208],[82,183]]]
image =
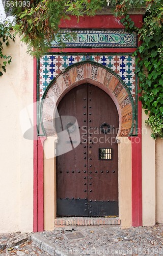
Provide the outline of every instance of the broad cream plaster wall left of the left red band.
[[19,38],[6,53],[12,56],[0,77],[0,232],[33,230],[33,141],[23,138],[20,111],[33,102],[33,59]]

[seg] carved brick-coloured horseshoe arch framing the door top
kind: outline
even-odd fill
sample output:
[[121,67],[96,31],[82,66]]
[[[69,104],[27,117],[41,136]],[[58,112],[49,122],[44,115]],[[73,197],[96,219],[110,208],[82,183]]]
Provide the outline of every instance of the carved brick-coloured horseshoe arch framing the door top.
[[56,136],[53,123],[56,105],[68,91],[86,82],[101,88],[115,102],[119,113],[117,136],[131,135],[134,123],[134,103],[129,89],[115,72],[96,62],[87,61],[70,66],[53,79],[46,89],[41,105],[41,123],[46,136]]

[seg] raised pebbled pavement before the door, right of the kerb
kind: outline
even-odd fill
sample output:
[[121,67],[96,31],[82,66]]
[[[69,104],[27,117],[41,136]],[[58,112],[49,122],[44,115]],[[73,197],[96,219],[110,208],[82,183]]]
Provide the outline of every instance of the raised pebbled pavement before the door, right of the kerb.
[[[163,225],[127,229],[119,226],[69,226],[41,234],[60,247],[63,255],[163,255]],[[80,235],[83,238],[78,239]]]

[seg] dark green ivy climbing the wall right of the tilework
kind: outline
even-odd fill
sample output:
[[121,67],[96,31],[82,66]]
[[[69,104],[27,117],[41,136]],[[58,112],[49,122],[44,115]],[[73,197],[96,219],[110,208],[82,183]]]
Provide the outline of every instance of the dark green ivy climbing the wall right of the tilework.
[[141,46],[137,56],[136,72],[145,113],[149,115],[146,124],[152,129],[151,136],[163,138],[163,4],[161,1],[146,1],[146,16],[142,28],[134,27],[129,15],[121,22],[127,30],[139,34]]

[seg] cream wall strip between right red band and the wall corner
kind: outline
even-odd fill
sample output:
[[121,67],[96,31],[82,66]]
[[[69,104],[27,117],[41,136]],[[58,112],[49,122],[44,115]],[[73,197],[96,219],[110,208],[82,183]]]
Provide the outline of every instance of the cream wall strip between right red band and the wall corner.
[[143,226],[155,224],[155,140],[150,127],[145,125],[147,115],[142,111],[142,203]]

